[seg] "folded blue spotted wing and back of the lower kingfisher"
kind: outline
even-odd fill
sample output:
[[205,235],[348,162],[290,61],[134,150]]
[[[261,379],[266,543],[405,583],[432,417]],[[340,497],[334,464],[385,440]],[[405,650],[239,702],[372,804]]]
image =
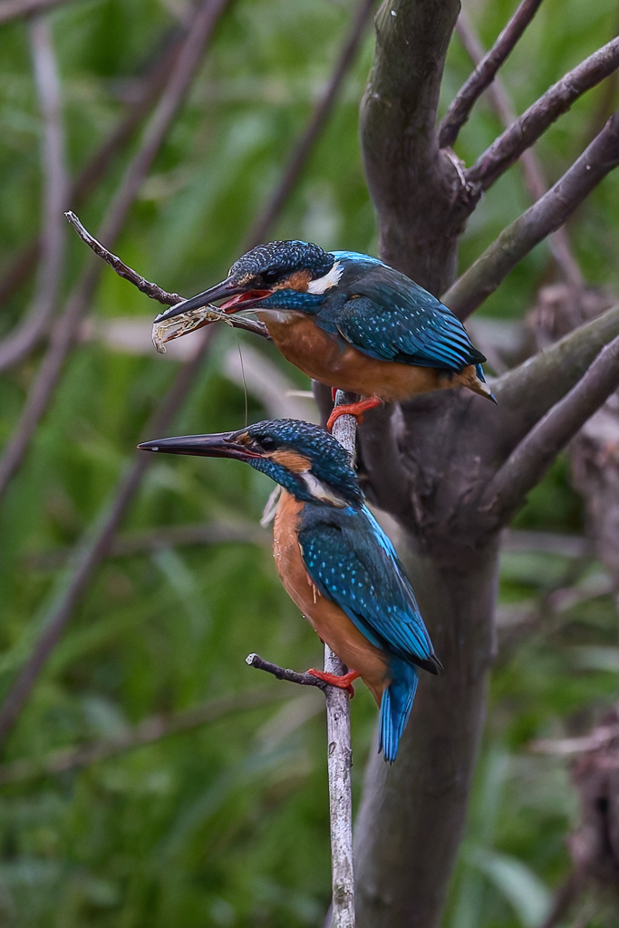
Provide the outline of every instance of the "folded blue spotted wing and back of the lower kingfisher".
[[320,509],[315,518],[303,520],[299,532],[303,562],[318,590],[375,647],[407,663],[427,664],[432,642],[404,568],[378,522],[365,508]]

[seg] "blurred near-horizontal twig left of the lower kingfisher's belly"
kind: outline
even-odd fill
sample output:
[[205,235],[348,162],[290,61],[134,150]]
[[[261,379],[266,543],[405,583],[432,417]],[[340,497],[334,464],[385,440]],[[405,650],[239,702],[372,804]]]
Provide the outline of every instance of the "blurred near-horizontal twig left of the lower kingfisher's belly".
[[[541,534],[541,533],[538,533]],[[269,537],[253,522],[204,522],[197,525],[170,525],[166,528],[127,532],[114,538],[108,558],[130,558],[166,548],[191,545],[268,545]],[[52,548],[29,554],[24,560],[31,570],[57,570],[71,558],[71,548]]]

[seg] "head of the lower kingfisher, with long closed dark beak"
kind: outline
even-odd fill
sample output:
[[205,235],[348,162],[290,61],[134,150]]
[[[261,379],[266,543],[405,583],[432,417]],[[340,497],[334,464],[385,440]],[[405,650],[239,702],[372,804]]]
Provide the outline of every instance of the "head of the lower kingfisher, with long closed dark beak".
[[257,422],[239,432],[159,438],[138,447],[173,455],[236,458],[262,470],[305,502],[342,509],[363,505],[348,452],[329,432],[299,419]]

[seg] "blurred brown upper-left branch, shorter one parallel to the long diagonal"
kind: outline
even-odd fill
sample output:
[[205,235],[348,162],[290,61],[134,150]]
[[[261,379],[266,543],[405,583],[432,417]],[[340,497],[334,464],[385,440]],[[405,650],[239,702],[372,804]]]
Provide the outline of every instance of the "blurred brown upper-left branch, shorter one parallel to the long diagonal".
[[[161,40],[151,51],[149,58],[153,64],[148,72],[137,82],[135,99],[127,105],[123,119],[118,123],[101,148],[86,162],[84,168],[73,182],[67,200],[62,204],[61,212],[68,206],[79,206],[93,187],[107,172],[110,162],[129,141],[135,129],[153,106],[163,84],[174,66],[174,59],[182,45],[185,32],[174,29],[167,43]],[[41,239],[33,238],[8,264],[0,279],[0,305],[6,303],[32,271],[41,249]],[[10,336],[8,336],[10,337]],[[2,342],[0,342],[0,346]],[[34,345],[32,345],[34,347]]]

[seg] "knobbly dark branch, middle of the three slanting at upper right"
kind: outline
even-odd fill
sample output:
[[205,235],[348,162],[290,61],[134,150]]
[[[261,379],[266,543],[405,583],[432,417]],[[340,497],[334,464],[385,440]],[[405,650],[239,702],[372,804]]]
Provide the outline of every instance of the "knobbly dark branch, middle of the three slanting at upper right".
[[514,161],[518,161],[525,148],[530,148],[548,126],[567,112],[578,97],[619,67],[619,38],[603,45],[570,71],[557,84],[529,107],[519,120],[499,135],[495,142],[475,161],[465,177],[469,184],[487,190],[496,178]]

